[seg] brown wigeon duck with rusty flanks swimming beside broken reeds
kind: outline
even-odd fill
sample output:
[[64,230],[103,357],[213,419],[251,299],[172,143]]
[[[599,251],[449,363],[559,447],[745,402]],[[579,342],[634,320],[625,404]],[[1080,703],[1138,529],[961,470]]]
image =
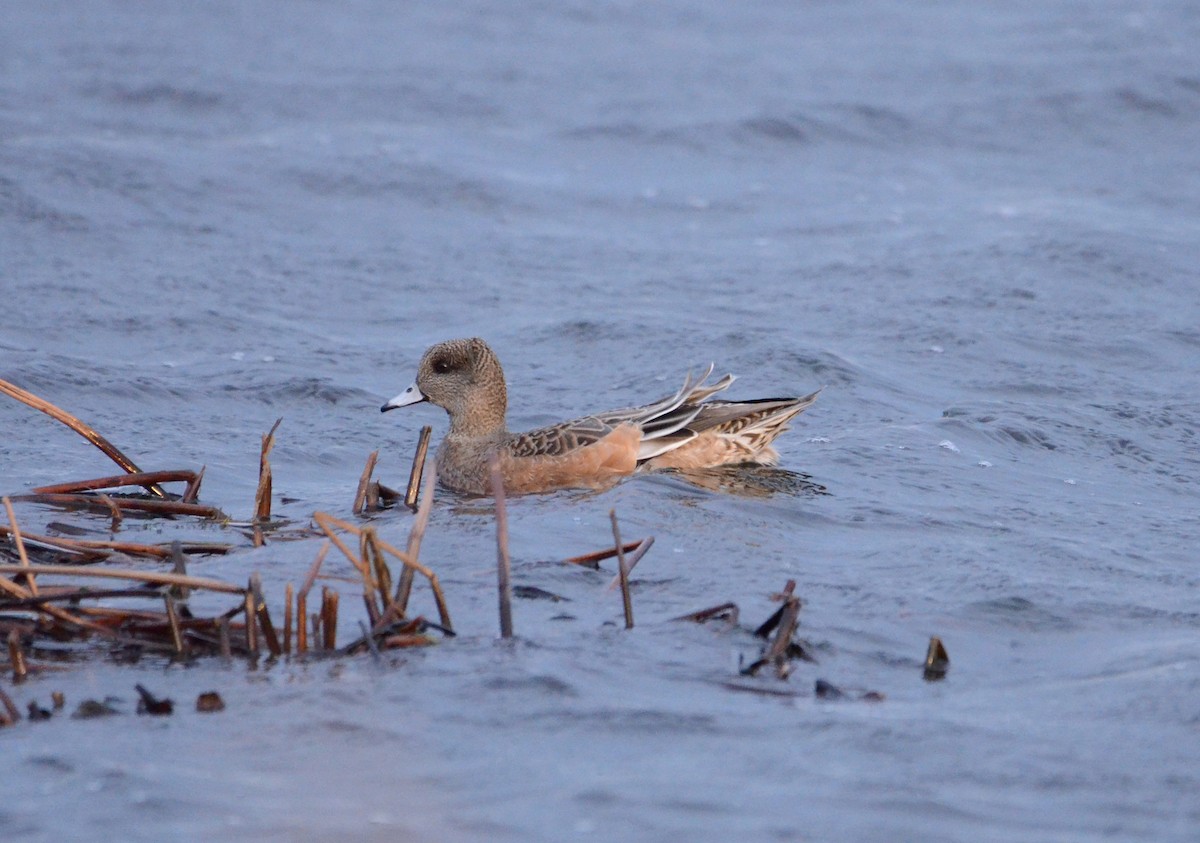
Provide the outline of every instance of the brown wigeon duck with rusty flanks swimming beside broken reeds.
[[[450,414],[438,449],[438,479],[450,489],[491,494],[488,461],[499,458],[511,494],[599,488],[638,468],[706,468],[779,459],[770,447],[787,423],[816,400],[804,397],[708,401],[733,383],[712,385],[689,373],[674,395],[628,409],[595,413],[550,428],[510,434],[504,415],[504,370],[480,339],[449,340],[421,358],[416,381],[385,403],[388,412],[428,401]],[[818,390],[820,391],[820,390]]]

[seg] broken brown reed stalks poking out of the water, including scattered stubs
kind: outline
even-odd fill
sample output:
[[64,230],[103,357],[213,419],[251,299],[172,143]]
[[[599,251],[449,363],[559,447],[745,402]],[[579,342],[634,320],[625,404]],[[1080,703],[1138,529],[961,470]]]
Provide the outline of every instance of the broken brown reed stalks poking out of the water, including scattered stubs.
[[[205,471],[203,467],[199,471],[143,471],[112,442],[66,411],[6,381],[0,381],[0,393],[80,434],[124,472],[55,483],[2,498],[5,522],[0,524],[0,639],[6,644],[14,682],[22,682],[47,669],[36,654],[49,641],[77,642],[77,652],[83,654],[89,652],[89,645],[100,642],[110,650],[152,653],[168,659],[325,658],[359,653],[379,658],[390,650],[426,647],[455,635],[440,581],[434,570],[420,558],[437,476],[437,466],[428,459],[430,428],[421,430],[403,494],[373,479],[378,461],[378,452],[374,452],[366,460],[349,507],[356,522],[317,512],[312,515],[311,526],[296,527],[271,520],[274,476],[270,455],[282,423],[278,419],[262,437],[253,516],[245,522],[234,522],[217,507],[199,500]],[[515,634],[515,588],[509,551],[508,504],[494,465],[492,483],[497,525],[499,634],[502,639],[509,639]],[[176,484],[181,484],[181,488],[168,491]],[[55,510],[106,513],[112,518],[113,538],[82,539],[49,534],[44,530],[26,530],[18,522],[13,502]],[[374,513],[401,502],[414,513],[403,550],[382,538],[371,522]],[[131,514],[138,519],[200,519],[236,533],[239,538],[229,542],[175,540],[152,544],[118,539],[115,534],[120,531],[122,520]],[[610,521],[612,546],[562,560],[562,564],[598,569],[601,561],[616,557],[617,574],[610,588],[620,587],[624,626],[632,629],[631,573],[653,546],[654,537],[624,542],[616,510],[610,512]],[[247,527],[248,534],[242,532]],[[282,606],[276,603],[274,611],[257,572],[251,573],[244,584],[196,576],[187,572],[188,564],[197,557],[244,549],[247,546],[247,538],[250,545],[259,546],[276,538],[313,537],[323,540],[307,575],[299,587],[293,582],[286,584]],[[361,585],[359,600],[343,594],[342,590],[332,585],[341,578],[323,574],[332,549],[356,573],[356,580]],[[169,566],[170,569],[148,570],[132,567],[131,562],[158,563]],[[436,622],[409,615],[409,602],[418,576],[432,597],[438,615]],[[322,580],[320,588],[314,591],[318,580]],[[534,592],[538,596],[548,594],[532,586],[520,588],[520,596]],[[794,660],[812,660],[805,646],[794,638],[802,605],[794,588],[796,584],[788,581],[776,596],[780,608],[754,630],[754,634],[767,639],[767,644],[761,656],[742,670],[744,676],[752,677],[763,668],[770,668],[776,677],[786,678]],[[204,599],[198,600],[199,596]],[[343,598],[350,600],[350,606],[361,604],[359,618],[344,622],[347,618],[341,617]],[[198,603],[217,608],[200,611],[197,609]],[[738,615],[736,604],[721,603],[674,620],[696,623],[721,620],[730,629],[738,629]],[[281,626],[276,624],[277,620]],[[338,645],[342,627],[356,627],[358,634]],[[925,659],[925,677],[943,677],[948,664],[944,647],[938,639],[934,639]],[[818,684],[815,693],[830,698],[830,689],[838,690],[829,683]],[[158,699],[140,687],[138,694],[139,710],[144,713],[170,712],[169,700]],[[198,700],[198,710],[217,711],[223,707],[220,696],[215,696],[216,700]],[[31,717],[35,709],[44,711],[46,717],[49,717],[48,710],[40,709],[35,702],[30,704]],[[80,715],[77,712],[76,716]],[[0,688],[0,725],[11,724],[19,717],[12,700]]]

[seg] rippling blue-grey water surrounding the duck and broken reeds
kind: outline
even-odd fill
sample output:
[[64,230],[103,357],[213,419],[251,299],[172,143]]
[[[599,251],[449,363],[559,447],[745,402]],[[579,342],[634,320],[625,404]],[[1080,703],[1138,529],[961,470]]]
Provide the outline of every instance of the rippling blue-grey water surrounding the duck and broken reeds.
[[[829,495],[514,501],[516,582],[570,600],[518,600],[515,646],[490,510],[444,495],[422,558],[458,639],[6,682],[180,710],[0,735],[0,835],[1195,839],[1198,36],[1184,2],[10,4],[0,377],[143,467],[208,465],[248,516],[283,417],[276,512],[347,515],[368,452],[402,485],[444,429],[379,403],[478,334],[514,428],[709,360],[734,396],[824,385],[779,449]],[[110,471],[0,424],[2,491]],[[535,564],[602,546],[610,508],[656,538],[628,633],[611,564]],[[193,572],[278,600],[314,552]],[[787,579],[820,659],[787,682],[739,680],[745,630],[668,621],[752,627]],[[210,688],[228,710],[193,713]]]

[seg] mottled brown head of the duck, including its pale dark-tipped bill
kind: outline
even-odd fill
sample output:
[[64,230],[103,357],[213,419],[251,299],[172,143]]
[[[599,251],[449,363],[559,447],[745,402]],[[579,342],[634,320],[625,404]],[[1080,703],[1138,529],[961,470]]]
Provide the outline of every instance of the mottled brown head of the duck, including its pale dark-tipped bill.
[[439,342],[421,358],[416,382],[382,409],[420,401],[436,403],[450,414],[451,435],[504,432],[508,393],[500,361],[478,337]]

